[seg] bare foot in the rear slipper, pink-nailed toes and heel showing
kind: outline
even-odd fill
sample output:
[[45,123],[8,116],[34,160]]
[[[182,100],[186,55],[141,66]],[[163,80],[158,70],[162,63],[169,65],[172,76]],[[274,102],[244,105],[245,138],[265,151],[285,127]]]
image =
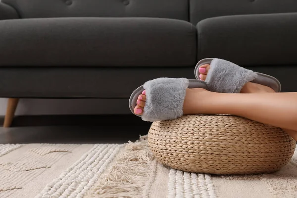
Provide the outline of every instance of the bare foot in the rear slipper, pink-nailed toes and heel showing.
[[[209,64],[202,65],[199,68],[199,72],[200,72],[199,77],[202,81],[206,80],[209,69],[211,69]],[[240,93],[264,93],[264,92],[267,93],[267,92],[275,92],[275,91],[272,88],[267,87],[265,85],[252,83],[252,82],[247,82],[240,91]]]

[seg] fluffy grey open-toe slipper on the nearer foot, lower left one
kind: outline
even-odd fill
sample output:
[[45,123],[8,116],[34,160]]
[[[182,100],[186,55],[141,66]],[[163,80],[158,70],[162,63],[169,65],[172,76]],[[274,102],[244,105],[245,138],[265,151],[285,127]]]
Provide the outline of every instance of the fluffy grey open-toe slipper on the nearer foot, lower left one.
[[[143,114],[137,115],[144,121],[161,121],[176,119],[183,115],[186,88],[203,88],[209,90],[206,83],[186,78],[157,78],[147,81],[130,96],[129,107],[134,114],[138,96],[146,90],[146,105]],[[136,115],[136,114],[135,114]]]

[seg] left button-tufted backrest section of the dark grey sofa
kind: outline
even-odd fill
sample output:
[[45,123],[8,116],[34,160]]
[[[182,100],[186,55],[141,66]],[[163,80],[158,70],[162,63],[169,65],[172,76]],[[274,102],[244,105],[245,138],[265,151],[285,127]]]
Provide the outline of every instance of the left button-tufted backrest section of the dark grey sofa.
[[20,18],[155,17],[189,20],[188,0],[2,0]]

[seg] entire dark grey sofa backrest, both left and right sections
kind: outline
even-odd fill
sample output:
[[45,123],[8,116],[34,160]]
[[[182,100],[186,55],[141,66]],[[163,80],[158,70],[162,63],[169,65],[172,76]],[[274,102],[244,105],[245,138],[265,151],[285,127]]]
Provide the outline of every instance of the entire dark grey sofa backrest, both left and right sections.
[[199,21],[227,15],[297,12],[297,0],[2,0],[20,18],[154,17]]

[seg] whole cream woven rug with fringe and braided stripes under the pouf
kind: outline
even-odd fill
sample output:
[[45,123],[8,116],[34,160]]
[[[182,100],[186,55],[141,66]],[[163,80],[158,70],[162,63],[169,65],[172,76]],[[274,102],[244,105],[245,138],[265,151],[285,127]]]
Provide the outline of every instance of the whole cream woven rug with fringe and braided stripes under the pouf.
[[297,198],[297,152],[274,174],[215,176],[156,162],[135,143],[0,145],[0,198]]

